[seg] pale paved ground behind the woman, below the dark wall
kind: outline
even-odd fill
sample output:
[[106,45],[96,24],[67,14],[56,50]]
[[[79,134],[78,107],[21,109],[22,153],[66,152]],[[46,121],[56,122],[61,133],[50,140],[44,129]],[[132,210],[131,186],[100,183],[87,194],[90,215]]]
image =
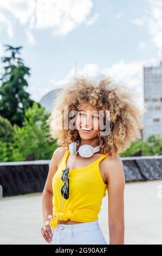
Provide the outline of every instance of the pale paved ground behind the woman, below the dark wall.
[[[48,245],[40,232],[41,196],[42,193],[32,193],[0,198],[0,244]],[[125,185],[125,244],[162,244],[161,213],[162,180],[127,183]],[[107,195],[102,200],[99,223],[108,242]]]

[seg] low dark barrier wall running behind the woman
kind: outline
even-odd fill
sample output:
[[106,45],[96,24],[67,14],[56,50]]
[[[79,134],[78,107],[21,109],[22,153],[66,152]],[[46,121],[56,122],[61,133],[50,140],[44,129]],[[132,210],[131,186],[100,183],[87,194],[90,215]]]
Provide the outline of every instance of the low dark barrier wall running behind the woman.
[[[126,182],[162,179],[162,156],[120,157]],[[0,163],[3,197],[42,192],[50,160]],[[0,197],[2,197],[0,195]]]

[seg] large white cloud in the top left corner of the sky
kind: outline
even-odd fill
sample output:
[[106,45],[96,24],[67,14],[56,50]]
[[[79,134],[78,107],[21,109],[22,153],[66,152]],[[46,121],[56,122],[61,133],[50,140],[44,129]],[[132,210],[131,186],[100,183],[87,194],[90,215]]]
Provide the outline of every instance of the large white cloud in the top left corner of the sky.
[[66,35],[81,23],[93,25],[99,14],[87,20],[92,7],[92,0],[5,0],[0,1],[0,25],[4,22],[11,36],[11,19],[17,20],[25,26],[29,42],[34,44],[31,29],[52,29],[53,34]]

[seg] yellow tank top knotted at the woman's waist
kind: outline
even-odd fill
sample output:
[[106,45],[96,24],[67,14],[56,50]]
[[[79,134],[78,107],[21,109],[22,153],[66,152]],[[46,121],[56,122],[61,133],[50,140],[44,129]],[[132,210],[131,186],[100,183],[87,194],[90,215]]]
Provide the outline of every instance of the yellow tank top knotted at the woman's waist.
[[66,149],[57,172],[52,179],[53,218],[50,220],[50,225],[53,229],[56,228],[59,220],[67,221],[70,219],[77,222],[98,220],[102,198],[106,196],[107,184],[103,181],[99,169],[100,161],[107,156],[104,154],[96,161],[88,164],[88,166],[69,169],[69,198],[64,199],[62,197],[61,187],[64,182],[61,180],[61,175],[62,170],[66,168],[68,155],[69,149]]

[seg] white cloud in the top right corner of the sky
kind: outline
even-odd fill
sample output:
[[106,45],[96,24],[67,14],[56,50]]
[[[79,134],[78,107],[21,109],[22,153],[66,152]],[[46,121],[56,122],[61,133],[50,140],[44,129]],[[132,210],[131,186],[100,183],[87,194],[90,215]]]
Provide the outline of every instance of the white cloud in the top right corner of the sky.
[[152,40],[157,48],[162,48],[162,1],[148,0],[150,9],[143,17],[133,20],[132,23],[138,26],[146,26],[152,36]]

